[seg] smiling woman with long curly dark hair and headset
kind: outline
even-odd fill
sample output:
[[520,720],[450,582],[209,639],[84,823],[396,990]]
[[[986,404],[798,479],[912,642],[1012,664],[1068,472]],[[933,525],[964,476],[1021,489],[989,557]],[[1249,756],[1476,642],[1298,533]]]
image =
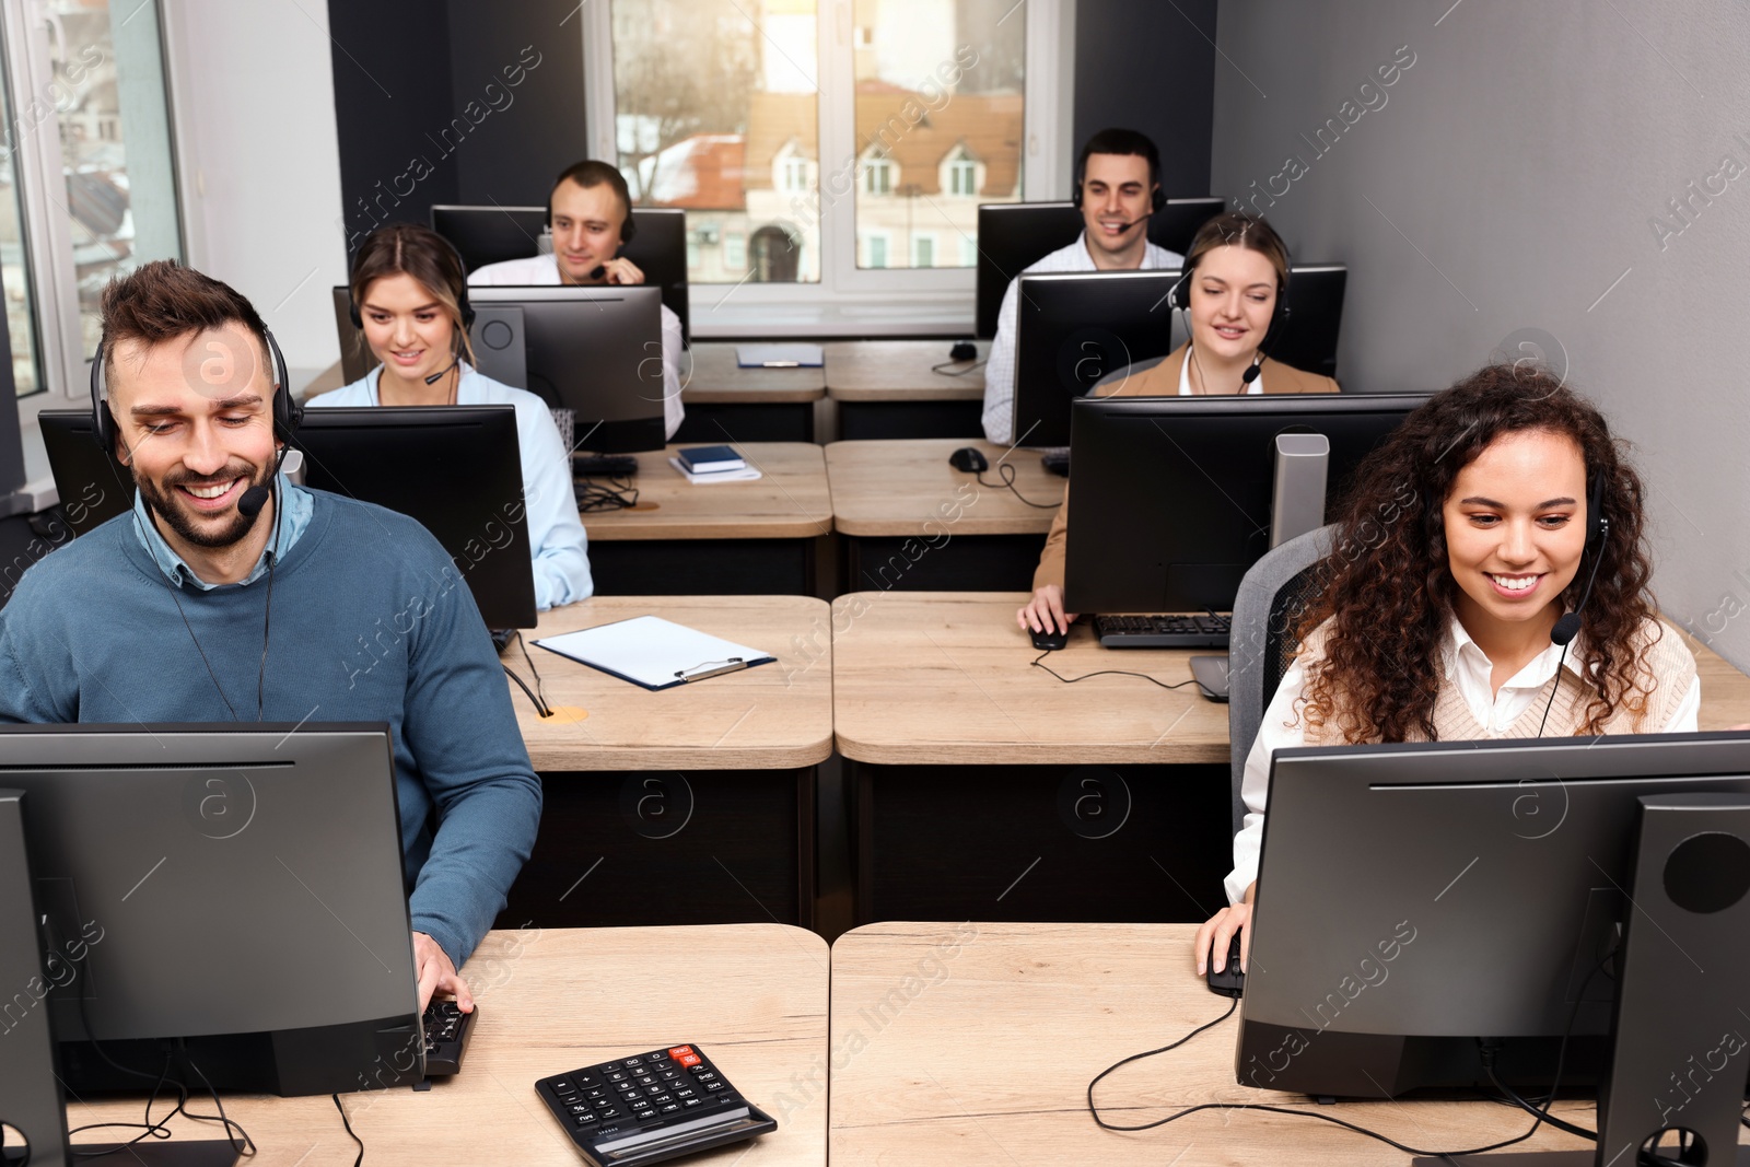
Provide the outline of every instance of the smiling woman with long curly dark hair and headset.
[[1603,415],[1516,366],[1430,397],[1362,464],[1246,759],[1232,906],[1199,929],[1199,973],[1251,919],[1278,749],[1696,728],[1696,661],[1647,588],[1643,499]]

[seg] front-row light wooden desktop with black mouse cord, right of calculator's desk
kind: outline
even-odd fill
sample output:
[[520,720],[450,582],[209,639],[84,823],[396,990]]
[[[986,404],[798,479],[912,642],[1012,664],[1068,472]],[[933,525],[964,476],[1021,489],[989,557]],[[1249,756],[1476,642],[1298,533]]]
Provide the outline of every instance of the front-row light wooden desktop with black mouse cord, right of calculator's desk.
[[[833,945],[833,1164],[1293,1164],[1409,1160],[1354,1132],[1288,1115],[1204,1111],[1155,1130],[1101,1130],[1088,1081],[1130,1053],[1214,1020],[1227,1001],[1192,973],[1190,926],[873,924]],[[900,990],[898,996],[894,990]],[[1312,1109],[1306,1095],[1234,1081],[1237,1018],[1113,1073],[1094,1101],[1138,1125],[1197,1102]],[[854,1057],[842,1050],[856,1048]],[[1556,1111],[1591,1123],[1592,1108]],[[1323,1108],[1400,1143],[1479,1146],[1530,1120],[1489,1102]],[[1591,1144],[1544,1127],[1521,1150]],[[1508,1160],[1510,1162],[1510,1160]]]

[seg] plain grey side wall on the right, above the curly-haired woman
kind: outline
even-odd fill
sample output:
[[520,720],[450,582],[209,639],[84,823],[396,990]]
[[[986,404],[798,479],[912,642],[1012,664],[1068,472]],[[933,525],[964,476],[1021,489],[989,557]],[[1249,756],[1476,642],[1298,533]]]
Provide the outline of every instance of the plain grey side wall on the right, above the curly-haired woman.
[[1213,185],[1349,264],[1344,388],[1440,388],[1540,329],[1634,444],[1666,616],[1750,667],[1745,5],[1225,0],[1218,42]]

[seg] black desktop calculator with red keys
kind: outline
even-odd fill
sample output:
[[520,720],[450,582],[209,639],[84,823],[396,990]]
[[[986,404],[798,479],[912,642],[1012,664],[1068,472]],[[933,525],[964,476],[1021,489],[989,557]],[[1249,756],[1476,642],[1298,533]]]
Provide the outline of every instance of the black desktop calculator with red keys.
[[660,1164],[777,1130],[693,1045],[541,1078],[536,1094],[595,1167]]

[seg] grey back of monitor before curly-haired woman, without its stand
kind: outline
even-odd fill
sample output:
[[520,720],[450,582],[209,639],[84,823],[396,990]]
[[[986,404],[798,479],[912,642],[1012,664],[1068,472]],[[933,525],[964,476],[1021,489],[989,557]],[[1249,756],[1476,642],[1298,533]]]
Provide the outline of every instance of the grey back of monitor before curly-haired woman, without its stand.
[[[1631,912],[1636,800],[1690,793],[1750,794],[1750,735],[1278,751],[1239,1080],[1362,1097],[1474,1085],[1475,1038],[1508,1041],[1503,1067],[1516,1048],[1550,1053],[1575,1003],[1570,1066],[1596,1071],[1586,1039],[1608,1031],[1612,990],[1580,990]],[[1517,1071],[1547,1083],[1526,1057]]]

